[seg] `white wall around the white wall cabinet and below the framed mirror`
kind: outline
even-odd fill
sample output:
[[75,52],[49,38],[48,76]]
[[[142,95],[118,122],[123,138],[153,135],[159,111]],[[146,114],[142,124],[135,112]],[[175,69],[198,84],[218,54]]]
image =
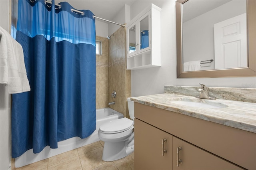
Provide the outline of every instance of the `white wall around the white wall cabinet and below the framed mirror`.
[[256,88],[256,77],[176,78],[175,0],[138,0],[130,6],[130,19],[151,3],[161,11],[161,67],[132,70],[132,96],[164,93],[164,85]]

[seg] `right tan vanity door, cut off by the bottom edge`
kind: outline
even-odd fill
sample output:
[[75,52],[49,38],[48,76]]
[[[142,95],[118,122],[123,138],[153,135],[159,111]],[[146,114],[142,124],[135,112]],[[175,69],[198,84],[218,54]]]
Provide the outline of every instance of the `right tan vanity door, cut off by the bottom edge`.
[[[177,147],[182,148],[177,154]],[[182,164],[177,165],[180,159]],[[173,170],[242,170],[201,148],[173,136]]]

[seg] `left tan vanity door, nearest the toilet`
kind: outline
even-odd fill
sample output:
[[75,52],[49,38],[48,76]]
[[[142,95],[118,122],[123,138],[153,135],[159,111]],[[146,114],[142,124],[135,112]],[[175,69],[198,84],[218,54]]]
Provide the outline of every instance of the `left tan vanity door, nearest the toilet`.
[[[172,169],[172,135],[139,119],[135,119],[134,133],[135,170]],[[163,144],[162,139],[166,139]],[[163,147],[167,151],[164,156],[162,156]]]

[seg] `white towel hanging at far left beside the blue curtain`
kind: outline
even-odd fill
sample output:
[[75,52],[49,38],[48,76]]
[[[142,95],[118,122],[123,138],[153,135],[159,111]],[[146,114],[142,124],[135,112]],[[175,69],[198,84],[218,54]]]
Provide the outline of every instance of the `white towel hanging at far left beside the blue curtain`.
[[30,91],[22,46],[0,27],[0,83],[8,85],[8,93]]

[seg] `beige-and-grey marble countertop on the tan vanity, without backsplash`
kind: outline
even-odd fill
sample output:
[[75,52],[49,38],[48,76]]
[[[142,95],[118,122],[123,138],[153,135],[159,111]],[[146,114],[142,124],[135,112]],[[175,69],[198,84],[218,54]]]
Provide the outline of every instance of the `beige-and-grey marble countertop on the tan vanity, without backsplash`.
[[[224,108],[206,109],[200,107],[188,107],[171,103],[171,101],[180,101],[184,100],[184,98],[189,101],[197,101],[200,103],[216,103],[217,105],[224,106]],[[144,105],[149,105],[152,107],[256,133],[256,103],[231,101],[224,99],[197,99],[196,97],[192,96],[175,95],[168,93],[131,97],[131,100]]]

